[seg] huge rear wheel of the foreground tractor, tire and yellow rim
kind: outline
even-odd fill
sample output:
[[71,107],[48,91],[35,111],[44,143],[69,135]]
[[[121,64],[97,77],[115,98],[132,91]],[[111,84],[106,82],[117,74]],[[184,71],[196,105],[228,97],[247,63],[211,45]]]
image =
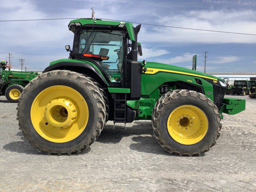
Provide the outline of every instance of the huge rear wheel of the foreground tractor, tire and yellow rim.
[[105,125],[99,88],[83,75],[66,70],[31,80],[17,110],[24,137],[48,155],[79,153],[97,139]]

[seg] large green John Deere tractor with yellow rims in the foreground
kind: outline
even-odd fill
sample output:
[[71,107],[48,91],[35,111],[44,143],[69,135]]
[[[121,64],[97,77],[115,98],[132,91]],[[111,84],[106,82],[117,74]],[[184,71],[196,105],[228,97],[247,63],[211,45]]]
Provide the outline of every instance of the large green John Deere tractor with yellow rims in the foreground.
[[20,130],[39,152],[79,153],[108,120],[152,120],[168,152],[201,155],[220,137],[222,113],[245,109],[245,100],[224,98],[223,79],[155,62],[137,61],[140,25],[76,19],[68,59],[50,63],[20,96]]

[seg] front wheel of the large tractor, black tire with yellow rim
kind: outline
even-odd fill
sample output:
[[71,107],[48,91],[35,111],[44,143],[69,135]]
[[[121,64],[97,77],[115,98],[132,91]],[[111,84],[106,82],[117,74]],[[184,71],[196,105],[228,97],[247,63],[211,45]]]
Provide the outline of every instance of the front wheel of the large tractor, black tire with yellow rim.
[[168,92],[156,103],[152,127],[159,144],[179,156],[208,152],[220,137],[220,114],[212,100],[189,90]]

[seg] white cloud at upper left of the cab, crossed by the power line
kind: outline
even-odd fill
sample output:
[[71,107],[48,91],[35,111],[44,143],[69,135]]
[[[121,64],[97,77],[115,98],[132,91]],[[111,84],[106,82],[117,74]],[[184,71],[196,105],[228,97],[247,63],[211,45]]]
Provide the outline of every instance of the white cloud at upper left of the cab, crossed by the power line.
[[[1,6],[7,8],[2,20],[45,19],[50,17],[41,12],[40,8],[29,0],[4,1]],[[1,27],[6,29],[6,32],[0,36],[0,42],[5,44],[6,49],[15,48],[19,50],[25,47],[29,51],[40,47],[53,48],[57,44],[61,44],[66,38],[72,39],[72,32],[68,31],[67,23],[67,20],[2,22]]]

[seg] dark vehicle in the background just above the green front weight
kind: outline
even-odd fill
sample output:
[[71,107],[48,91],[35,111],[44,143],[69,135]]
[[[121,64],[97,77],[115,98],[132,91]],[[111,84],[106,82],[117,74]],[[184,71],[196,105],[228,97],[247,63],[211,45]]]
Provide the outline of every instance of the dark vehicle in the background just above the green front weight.
[[231,95],[250,95],[250,84],[248,80],[235,80],[231,87]]

